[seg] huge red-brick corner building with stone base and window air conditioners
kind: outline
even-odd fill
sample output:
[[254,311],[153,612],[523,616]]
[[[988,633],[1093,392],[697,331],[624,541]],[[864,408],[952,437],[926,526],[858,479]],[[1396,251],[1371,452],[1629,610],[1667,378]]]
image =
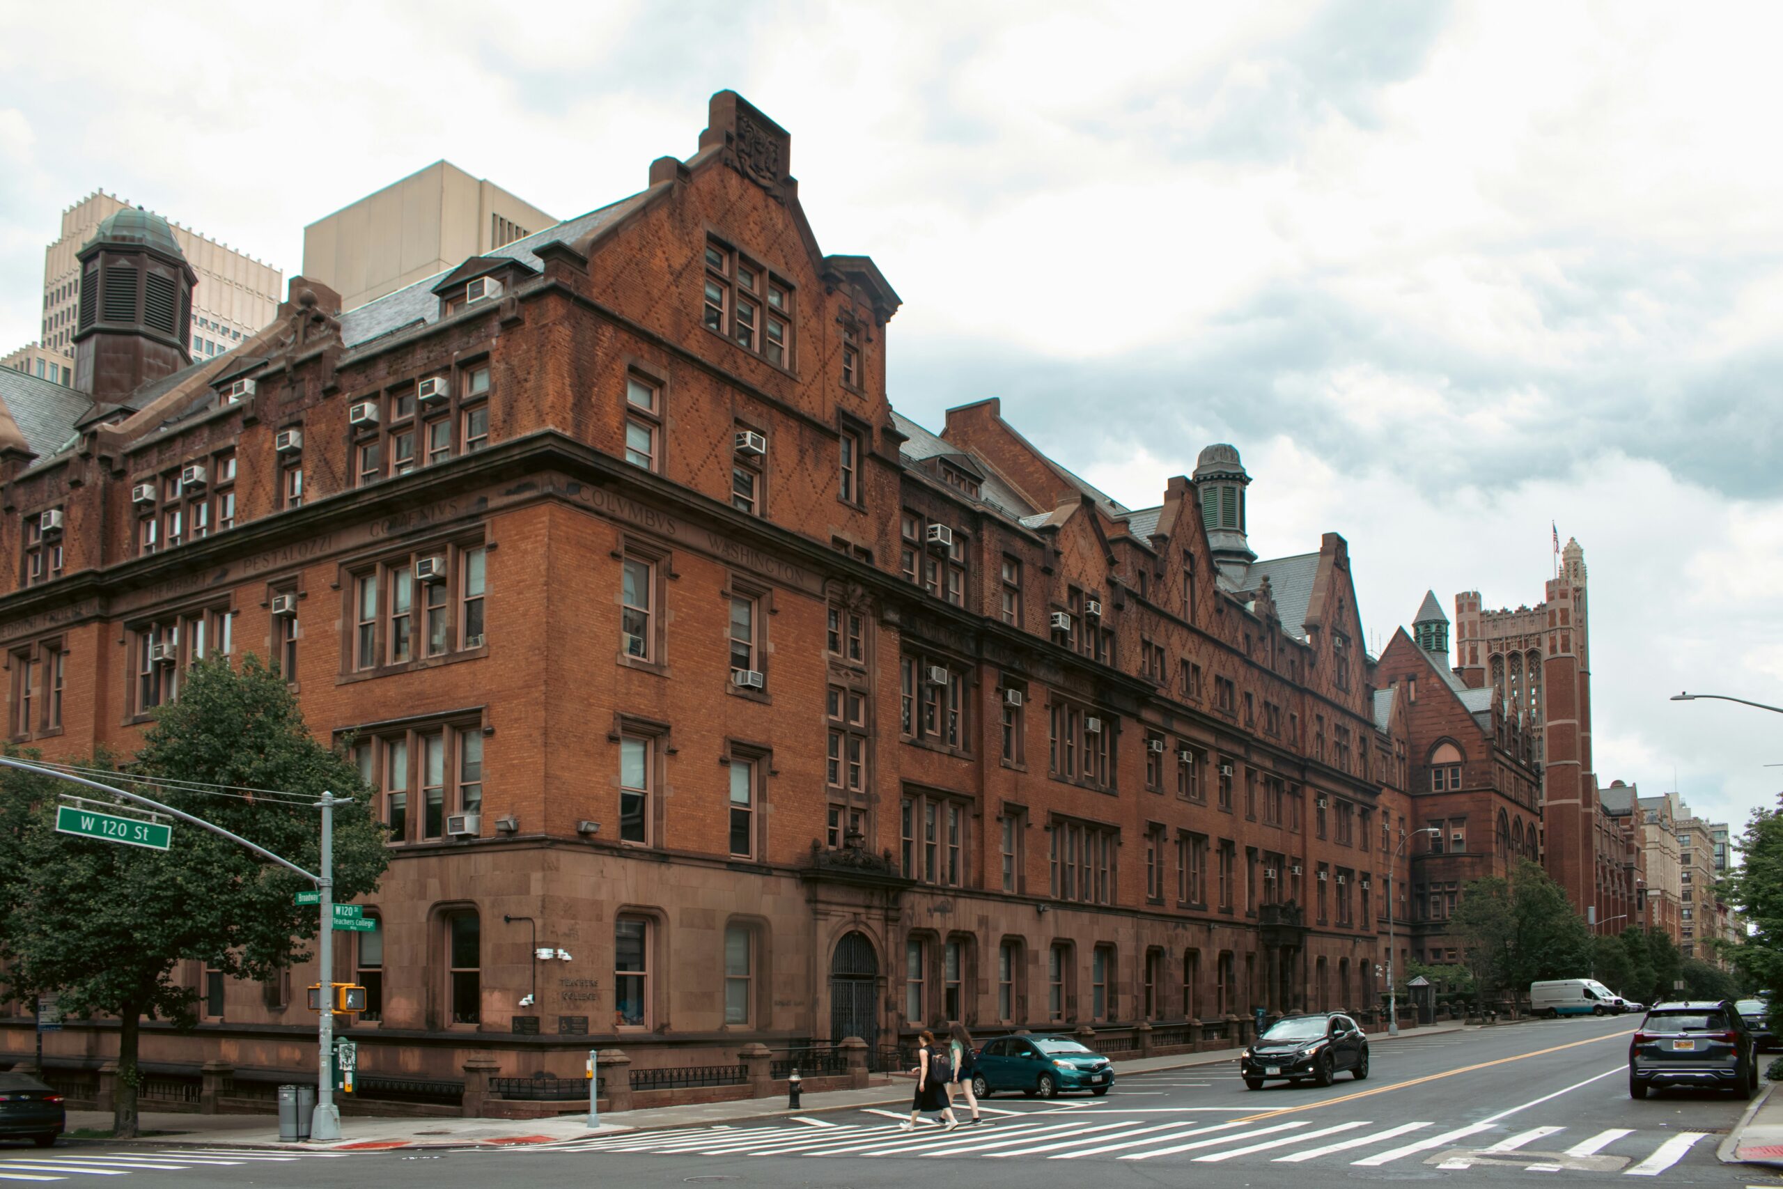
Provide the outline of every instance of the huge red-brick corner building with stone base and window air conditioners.
[[[1405,734],[1344,540],[1257,562],[1228,446],[1132,510],[997,401],[897,415],[899,296],[788,160],[720,93],[638,194],[201,364],[102,230],[103,401],[0,389],[12,738],[128,752],[275,658],[390,825],[373,1075],[1371,1005]],[[301,1068],[301,996],[189,977],[148,1059]]]

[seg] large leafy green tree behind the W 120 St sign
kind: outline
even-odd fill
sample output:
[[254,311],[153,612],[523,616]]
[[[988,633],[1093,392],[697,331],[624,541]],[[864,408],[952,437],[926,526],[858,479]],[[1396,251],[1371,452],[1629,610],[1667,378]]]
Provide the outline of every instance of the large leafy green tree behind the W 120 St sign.
[[[383,827],[358,770],[310,736],[283,677],[253,654],[239,665],[194,663],[134,763],[102,783],[214,822],[310,872],[321,849],[314,802],[323,791],[353,797],[335,809],[335,897],[362,897],[383,875]],[[0,977],[5,996],[55,993],[71,1014],[118,1018],[112,1118],[114,1134],[127,1137],[137,1132],[141,1021],[196,1021],[198,993],[175,982],[177,966],[198,959],[232,979],[276,977],[310,957],[300,947],[319,920],[294,904],[307,881],[196,825],[177,825],[166,852],[57,834],[55,802],[66,793],[80,790],[16,770],[0,775]]]

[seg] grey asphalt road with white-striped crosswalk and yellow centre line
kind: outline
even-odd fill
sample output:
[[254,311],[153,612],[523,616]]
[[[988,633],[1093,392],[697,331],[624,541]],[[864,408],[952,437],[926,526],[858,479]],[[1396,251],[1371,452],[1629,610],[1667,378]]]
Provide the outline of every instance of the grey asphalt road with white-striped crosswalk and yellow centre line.
[[[1248,1091],[1236,1066],[1120,1077],[1105,1098],[991,1098],[984,1123],[897,1130],[888,1112],[813,1112],[735,1127],[617,1134],[514,1150],[267,1153],[66,1144],[0,1150],[0,1189],[94,1184],[455,1189],[717,1184],[724,1189],[933,1184],[1287,1187],[1460,1178],[1644,1177],[1669,1185],[1783,1185],[1722,1166],[1744,1098],[1628,1098],[1633,1020],[1555,1020],[1371,1045],[1366,1082]],[[938,1168],[941,1160],[952,1168]],[[43,1178],[43,1180],[36,1180]],[[727,1185],[727,1184],[729,1185]],[[1639,1182],[1635,1182],[1639,1184]]]

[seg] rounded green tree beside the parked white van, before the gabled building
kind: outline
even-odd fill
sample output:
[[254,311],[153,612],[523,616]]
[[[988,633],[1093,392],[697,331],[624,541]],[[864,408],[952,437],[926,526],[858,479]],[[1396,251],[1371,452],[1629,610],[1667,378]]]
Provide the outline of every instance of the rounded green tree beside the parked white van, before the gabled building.
[[1489,993],[1524,996],[1542,979],[1590,973],[1592,941],[1583,918],[1541,865],[1523,859],[1510,879],[1469,882],[1450,918],[1467,966]]

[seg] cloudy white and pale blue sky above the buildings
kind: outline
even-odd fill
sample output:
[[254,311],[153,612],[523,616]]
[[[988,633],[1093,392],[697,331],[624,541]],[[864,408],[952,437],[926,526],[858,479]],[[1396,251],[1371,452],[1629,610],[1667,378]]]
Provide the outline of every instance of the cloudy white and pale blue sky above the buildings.
[[560,217],[629,194],[735,87],[902,294],[902,412],[1000,396],[1134,506],[1234,442],[1252,544],[1348,537],[1376,649],[1426,586],[1539,601],[1557,522],[1601,779],[1783,788],[1783,720],[1667,701],[1783,704],[1783,7],[78,7],[0,9],[0,349],[96,187],[289,276],[440,157]]

